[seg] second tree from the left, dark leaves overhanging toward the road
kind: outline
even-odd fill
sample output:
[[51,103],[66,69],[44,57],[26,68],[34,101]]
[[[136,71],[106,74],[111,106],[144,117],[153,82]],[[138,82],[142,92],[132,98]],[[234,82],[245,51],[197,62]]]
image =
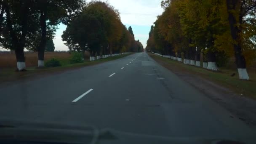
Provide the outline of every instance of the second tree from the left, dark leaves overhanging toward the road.
[[[40,15],[40,43],[38,45],[38,67],[44,67],[44,51],[47,42],[47,25],[57,26],[60,22],[67,24],[77,16],[85,5],[83,0],[37,0]],[[47,22],[49,21],[49,22]]]

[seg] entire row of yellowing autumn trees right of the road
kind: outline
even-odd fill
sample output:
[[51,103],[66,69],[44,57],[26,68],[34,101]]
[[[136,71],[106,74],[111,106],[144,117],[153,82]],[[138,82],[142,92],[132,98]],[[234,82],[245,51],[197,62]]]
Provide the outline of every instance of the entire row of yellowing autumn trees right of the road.
[[210,70],[218,70],[219,58],[234,56],[240,78],[249,79],[246,65],[256,57],[255,0],[163,0],[161,6],[147,51],[183,55],[192,65],[203,53]]

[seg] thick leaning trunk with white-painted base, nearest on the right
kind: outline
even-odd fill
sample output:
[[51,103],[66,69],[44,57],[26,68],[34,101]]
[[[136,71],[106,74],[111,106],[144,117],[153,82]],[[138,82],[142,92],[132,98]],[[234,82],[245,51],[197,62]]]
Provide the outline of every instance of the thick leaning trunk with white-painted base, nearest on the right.
[[235,19],[234,13],[232,13],[232,11],[236,10],[236,6],[238,5],[239,5],[239,0],[227,0],[229,27],[230,27],[232,39],[237,42],[233,46],[235,51],[235,63],[237,65],[239,78],[243,80],[249,80],[249,76],[246,69],[245,57],[243,56],[243,52],[240,44],[240,32],[242,31],[242,27],[241,27],[242,10],[240,9],[239,24],[237,24],[237,20]]

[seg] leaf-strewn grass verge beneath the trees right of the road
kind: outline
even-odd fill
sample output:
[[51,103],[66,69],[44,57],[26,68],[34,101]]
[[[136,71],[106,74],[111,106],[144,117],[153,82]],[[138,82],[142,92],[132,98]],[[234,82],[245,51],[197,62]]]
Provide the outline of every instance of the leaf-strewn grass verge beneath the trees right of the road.
[[[219,68],[219,72],[213,72],[201,67],[183,64],[179,61],[163,58],[149,53],[155,61],[175,73],[191,74],[210,80],[218,85],[228,88],[240,96],[246,96],[256,100],[256,74],[249,73],[250,80],[240,80],[237,72],[227,68]],[[235,73],[235,76],[231,76]]]

